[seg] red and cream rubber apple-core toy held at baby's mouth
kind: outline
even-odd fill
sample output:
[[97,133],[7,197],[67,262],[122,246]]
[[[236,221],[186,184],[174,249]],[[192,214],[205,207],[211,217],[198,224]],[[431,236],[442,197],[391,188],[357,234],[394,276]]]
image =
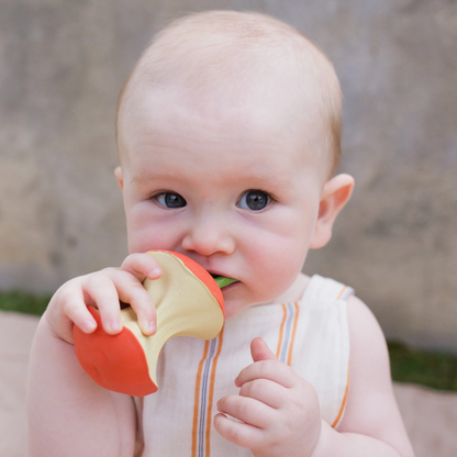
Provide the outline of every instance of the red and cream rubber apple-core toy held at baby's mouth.
[[212,339],[224,324],[224,301],[211,275],[189,257],[167,250],[147,253],[160,265],[159,279],[146,279],[157,310],[157,332],[145,336],[129,306],[121,311],[123,330],[107,334],[99,312],[88,306],[97,320],[91,334],[74,327],[76,355],[82,368],[101,387],[134,397],[157,390],[156,368],[160,349],[174,336]]

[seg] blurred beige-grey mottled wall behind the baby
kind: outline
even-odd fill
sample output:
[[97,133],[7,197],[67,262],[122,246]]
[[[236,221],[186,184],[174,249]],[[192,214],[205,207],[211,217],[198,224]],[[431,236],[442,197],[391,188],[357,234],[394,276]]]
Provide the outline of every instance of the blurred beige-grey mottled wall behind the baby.
[[0,0],[0,289],[121,263],[118,91],[155,31],[210,8],[293,24],[341,77],[357,187],[305,271],[355,287],[389,337],[457,352],[455,0]]

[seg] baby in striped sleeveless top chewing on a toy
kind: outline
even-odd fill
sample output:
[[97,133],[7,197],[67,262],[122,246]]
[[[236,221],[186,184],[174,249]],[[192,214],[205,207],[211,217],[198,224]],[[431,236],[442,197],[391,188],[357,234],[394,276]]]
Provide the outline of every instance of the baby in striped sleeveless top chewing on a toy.
[[[131,254],[65,283],[41,320],[32,457],[413,456],[375,317],[350,288],[301,272],[354,186],[333,175],[341,104],[326,57],[272,18],[199,13],[156,37],[118,107]],[[169,341],[158,392],[134,399],[89,378],[71,335],[94,331],[87,305],[118,334],[120,301],[155,333],[151,249],[238,281],[222,289],[220,336]]]

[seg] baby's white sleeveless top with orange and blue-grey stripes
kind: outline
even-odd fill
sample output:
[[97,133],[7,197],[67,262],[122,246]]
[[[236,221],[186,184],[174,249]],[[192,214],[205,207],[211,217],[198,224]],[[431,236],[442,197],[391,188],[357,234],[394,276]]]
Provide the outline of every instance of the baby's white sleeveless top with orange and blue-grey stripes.
[[[299,302],[245,309],[204,342],[176,337],[157,366],[158,391],[135,399],[143,457],[247,457],[214,430],[216,401],[237,394],[234,379],[253,363],[249,345],[261,336],[269,348],[316,390],[322,417],[336,427],[348,390],[349,335],[346,299],[354,292],[313,276]],[[143,435],[143,436],[141,436]]]

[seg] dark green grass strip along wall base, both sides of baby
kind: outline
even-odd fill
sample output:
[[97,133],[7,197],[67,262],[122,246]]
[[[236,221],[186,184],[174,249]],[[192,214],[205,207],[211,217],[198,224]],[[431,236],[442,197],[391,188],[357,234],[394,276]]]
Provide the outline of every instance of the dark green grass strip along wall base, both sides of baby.
[[[42,315],[51,296],[21,291],[0,292],[0,310]],[[428,353],[388,342],[392,379],[457,392],[457,356]]]

